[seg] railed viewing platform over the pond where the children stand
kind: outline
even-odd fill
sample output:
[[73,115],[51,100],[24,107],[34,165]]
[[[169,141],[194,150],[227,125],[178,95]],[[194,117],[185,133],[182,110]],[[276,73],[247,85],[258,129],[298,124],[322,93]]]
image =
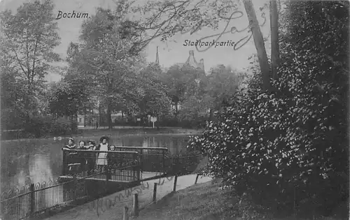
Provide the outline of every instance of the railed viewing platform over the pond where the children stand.
[[[138,182],[152,173],[167,173],[166,159],[169,157],[165,147],[122,147],[113,151],[86,149],[62,149],[63,166],[60,178],[73,175],[88,179],[108,179],[111,182]],[[102,155],[103,156],[100,156]],[[141,177],[142,176],[142,177]]]

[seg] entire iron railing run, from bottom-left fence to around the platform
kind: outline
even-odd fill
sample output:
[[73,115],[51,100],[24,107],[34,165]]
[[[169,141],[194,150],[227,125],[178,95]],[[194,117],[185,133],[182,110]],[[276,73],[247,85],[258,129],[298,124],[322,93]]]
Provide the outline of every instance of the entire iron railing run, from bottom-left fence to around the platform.
[[[71,157],[70,160],[80,160],[86,156],[83,151],[79,150],[64,150],[64,152],[65,156],[69,152],[76,152],[73,154],[76,157]],[[138,152],[123,151],[128,156],[123,156],[123,153],[120,152],[122,151],[116,152],[122,154],[121,157],[116,155],[118,159],[106,158],[106,166],[92,170],[83,170],[81,166],[77,166],[78,169],[83,170],[78,175],[67,173],[67,169],[72,167],[69,164],[72,163],[68,163],[69,159],[66,158],[64,169],[66,175],[63,177],[55,181],[31,184],[22,189],[2,193],[0,219],[29,219],[67,203],[79,205],[109,193],[130,188],[132,184],[138,184],[142,180],[140,178],[142,162],[146,167],[143,170],[160,171],[163,175],[186,175],[192,173],[203,159],[201,154],[169,156],[168,154],[144,152],[144,155],[147,156],[141,158]],[[125,163],[121,163],[122,161]],[[126,163],[127,161],[129,162]]]

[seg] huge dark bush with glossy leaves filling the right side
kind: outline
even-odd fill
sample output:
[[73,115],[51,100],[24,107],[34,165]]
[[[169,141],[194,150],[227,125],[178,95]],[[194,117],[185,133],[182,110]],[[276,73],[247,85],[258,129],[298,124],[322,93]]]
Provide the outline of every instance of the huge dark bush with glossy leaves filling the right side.
[[349,197],[348,13],[336,1],[286,3],[274,91],[237,93],[235,107],[190,142],[209,157],[207,173],[265,206],[296,203],[309,214]]

